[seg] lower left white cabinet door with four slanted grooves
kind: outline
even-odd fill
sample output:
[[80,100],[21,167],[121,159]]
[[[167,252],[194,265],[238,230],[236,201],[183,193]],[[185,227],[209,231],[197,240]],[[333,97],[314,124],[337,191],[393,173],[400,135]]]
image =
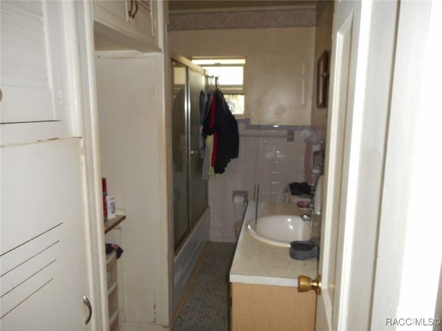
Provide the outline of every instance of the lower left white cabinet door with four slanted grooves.
[[79,138],[0,150],[1,330],[93,330],[81,150]]

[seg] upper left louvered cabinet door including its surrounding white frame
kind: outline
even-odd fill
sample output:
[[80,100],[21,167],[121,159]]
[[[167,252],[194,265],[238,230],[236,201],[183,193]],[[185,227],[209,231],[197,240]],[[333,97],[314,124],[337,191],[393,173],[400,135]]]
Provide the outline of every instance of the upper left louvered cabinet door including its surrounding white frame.
[[79,136],[75,1],[0,1],[1,145]]

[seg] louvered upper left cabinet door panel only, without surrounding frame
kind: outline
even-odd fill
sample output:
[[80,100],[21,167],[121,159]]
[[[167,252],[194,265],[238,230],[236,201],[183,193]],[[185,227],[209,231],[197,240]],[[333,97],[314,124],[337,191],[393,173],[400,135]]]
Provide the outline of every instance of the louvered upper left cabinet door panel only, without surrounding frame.
[[60,118],[56,15],[41,1],[1,1],[1,123]]

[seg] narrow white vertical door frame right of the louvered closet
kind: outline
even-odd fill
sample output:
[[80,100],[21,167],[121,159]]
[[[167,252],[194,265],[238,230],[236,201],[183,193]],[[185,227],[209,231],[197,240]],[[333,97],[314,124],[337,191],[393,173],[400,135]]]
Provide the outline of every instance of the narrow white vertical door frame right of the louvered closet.
[[90,265],[90,292],[95,294],[93,305],[93,319],[95,330],[108,330],[108,288],[106,274],[106,252],[104,239],[103,203],[102,203],[102,166],[99,152],[99,126],[97,92],[95,84],[95,46],[93,32],[93,1],[77,1],[77,24],[79,43],[81,44],[79,61],[81,63],[81,87],[84,123],[84,148],[86,150],[86,172],[88,189],[88,210],[90,228],[88,236],[92,256]]

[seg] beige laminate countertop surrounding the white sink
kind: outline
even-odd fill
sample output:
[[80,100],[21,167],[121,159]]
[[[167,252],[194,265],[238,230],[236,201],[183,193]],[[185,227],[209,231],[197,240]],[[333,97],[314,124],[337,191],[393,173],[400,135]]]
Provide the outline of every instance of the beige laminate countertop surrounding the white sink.
[[[246,225],[255,218],[256,203],[250,201],[242,223],[238,245],[230,270],[232,283],[260,285],[298,286],[298,276],[314,279],[318,260],[297,261],[291,259],[289,248],[281,248],[258,241],[247,232]],[[262,202],[258,206],[260,217],[269,214],[303,214],[295,203]]]

